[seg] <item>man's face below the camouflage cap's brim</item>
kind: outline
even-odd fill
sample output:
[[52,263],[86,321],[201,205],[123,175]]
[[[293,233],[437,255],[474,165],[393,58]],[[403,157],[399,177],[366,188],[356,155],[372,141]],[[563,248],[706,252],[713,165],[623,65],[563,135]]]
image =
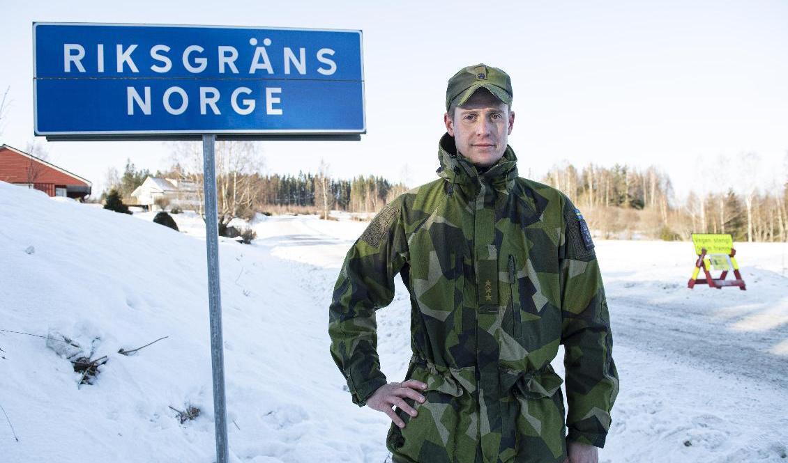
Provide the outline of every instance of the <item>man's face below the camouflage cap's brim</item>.
[[506,151],[507,139],[515,124],[515,113],[509,111],[489,91],[479,89],[463,106],[457,106],[454,117],[444,114],[449,135],[457,150],[479,167],[495,164]]

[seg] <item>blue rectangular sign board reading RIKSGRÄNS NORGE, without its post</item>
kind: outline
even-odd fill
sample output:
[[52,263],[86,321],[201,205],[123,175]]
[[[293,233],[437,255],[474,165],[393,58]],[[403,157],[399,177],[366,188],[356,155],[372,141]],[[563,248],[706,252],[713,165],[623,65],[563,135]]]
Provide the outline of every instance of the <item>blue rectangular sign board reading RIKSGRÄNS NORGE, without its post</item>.
[[33,24],[35,135],[362,134],[361,31]]

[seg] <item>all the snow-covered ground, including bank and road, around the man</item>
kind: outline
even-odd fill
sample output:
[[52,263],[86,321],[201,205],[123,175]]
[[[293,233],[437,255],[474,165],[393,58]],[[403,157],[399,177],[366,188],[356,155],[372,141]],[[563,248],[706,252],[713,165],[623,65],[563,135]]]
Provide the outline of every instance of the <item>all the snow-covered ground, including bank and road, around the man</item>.
[[[214,461],[204,228],[153,215],[0,182],[0,462]],[[258,217],[250,246],[220,239],[231,461],[386,459],[388,417],[351,403],[329,355],[333,283],[366,227],[347,219]],[[747,291],[687,289],[690,243],[597,241],[621,380],[600,461],[788,461],[788,245],[736,247]],[[378,318],[389,380],[409,313],[400,284]],[[106,364],[78,386],[30,334]],[[189,405],[180,424],[169,407]]]

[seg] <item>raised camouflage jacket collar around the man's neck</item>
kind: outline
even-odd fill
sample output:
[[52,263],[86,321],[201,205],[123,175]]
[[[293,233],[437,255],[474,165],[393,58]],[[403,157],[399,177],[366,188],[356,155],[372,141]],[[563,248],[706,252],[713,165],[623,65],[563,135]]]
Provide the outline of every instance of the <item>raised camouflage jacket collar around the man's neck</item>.
[[485,172],[479,172],[472,162],[457,152],[454,137],[446,132],[438,142],[438,161],[440,168],[437,169],[437,174],[449,183],[474,187],[477,183],[484,182],[492,184],[496,190],[511,191],[517,179],[517,156],[509,145],[498,162]]

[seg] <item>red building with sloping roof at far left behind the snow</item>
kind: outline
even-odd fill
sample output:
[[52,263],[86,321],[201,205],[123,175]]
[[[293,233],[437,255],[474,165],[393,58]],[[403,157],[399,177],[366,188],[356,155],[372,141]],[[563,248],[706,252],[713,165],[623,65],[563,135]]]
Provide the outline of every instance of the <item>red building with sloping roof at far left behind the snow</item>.
[[8,145],[0,145],[0,180],[32,185],[50,196],[82,200],[91,194],[88,180]]

